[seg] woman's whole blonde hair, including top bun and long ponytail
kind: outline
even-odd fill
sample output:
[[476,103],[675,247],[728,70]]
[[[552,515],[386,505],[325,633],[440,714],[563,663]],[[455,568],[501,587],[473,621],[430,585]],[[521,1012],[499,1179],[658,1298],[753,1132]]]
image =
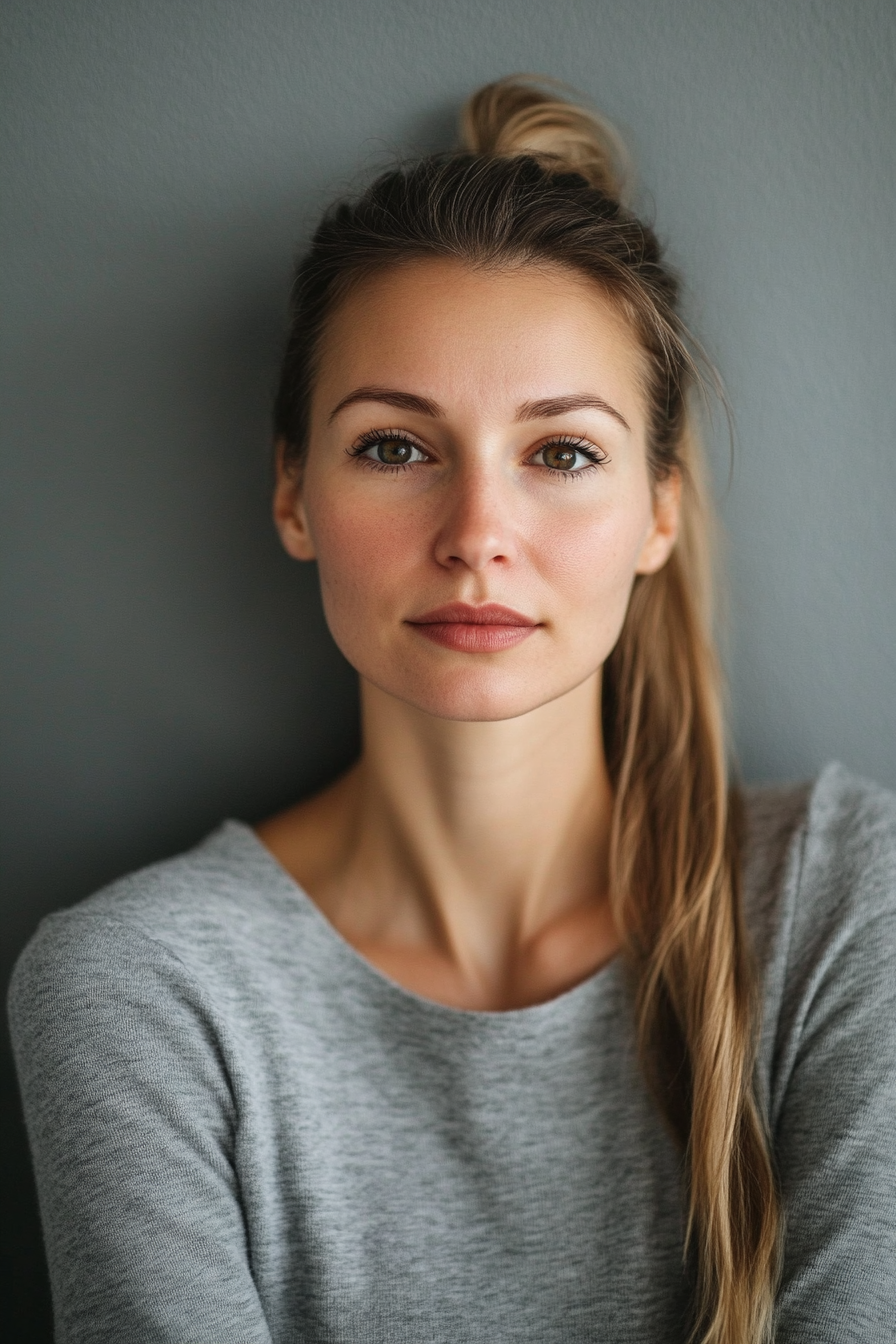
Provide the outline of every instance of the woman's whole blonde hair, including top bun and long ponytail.
[[672,556],[635,579],[603,669],[614,915],[643,1071],[685,1157],[692,1340],[760,1344],[780,1214],[754,1077],[756,972],[712,641],[709,511],[690,410],[697,364],[677,280],[622,203],[622,141],[559,90],[531,77],[486,85],[463,109],[462,151],[395,168],[328,211],[296,276],[275,431],[300,465],[329,314],[360,278],[412,257],[552,261],[600,285],[635,329],[649,368],[650,468],[656,480],[681,477],[682,505]]

